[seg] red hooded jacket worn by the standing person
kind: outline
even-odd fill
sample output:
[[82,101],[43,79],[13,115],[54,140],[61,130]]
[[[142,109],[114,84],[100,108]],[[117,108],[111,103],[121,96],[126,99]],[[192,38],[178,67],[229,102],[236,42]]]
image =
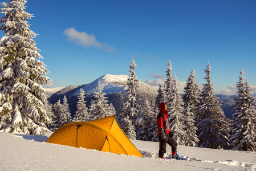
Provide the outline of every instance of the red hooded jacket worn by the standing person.
[[159,104],[160,113],[157,115],[157,134],[161,137],[161,139],[165,139],[165,135],[168,135],[170,132],[169,120],[168,120],[168,112],[165,109],[166,103]]

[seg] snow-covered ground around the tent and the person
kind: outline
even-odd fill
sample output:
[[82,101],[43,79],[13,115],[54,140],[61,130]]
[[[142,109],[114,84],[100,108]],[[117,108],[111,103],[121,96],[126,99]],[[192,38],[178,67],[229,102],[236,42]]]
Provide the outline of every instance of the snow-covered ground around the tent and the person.
[[47,136],[0,132],[0,170],[256,170],[256,152],[178,146],[178,161],[169,146],[157,158],[155,142],[133,140],[144,156],[135,157],[48,144]]

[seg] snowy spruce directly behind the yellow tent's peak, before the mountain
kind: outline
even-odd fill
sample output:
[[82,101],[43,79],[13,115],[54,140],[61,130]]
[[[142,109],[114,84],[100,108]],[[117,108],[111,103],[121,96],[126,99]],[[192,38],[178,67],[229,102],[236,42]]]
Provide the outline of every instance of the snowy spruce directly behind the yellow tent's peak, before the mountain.
[[112,116],[110,113],[109,105],[108,105],[108,97],[105,97],[103,92],[103,85],[99,81],[99,84],[96,87],[95,100],[92,100],[91,106],[89,109],[89,114],[91,116],[91,120],[100,119],[107,116]]

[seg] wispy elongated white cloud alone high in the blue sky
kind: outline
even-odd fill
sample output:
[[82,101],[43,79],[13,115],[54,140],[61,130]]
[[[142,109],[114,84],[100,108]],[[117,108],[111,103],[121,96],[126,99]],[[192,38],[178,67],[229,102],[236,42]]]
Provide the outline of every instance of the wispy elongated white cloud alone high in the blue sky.
[[112,52],[113,47],[107,43],[100,43],[96,40],[94,34],[87,34],[86,32],[79,32],[75,28],[67,28],[63,31],[63,34],[67,36],[67,40],[75,42],[82,47],[88,48],[90,46],[100,48],[106,52]]

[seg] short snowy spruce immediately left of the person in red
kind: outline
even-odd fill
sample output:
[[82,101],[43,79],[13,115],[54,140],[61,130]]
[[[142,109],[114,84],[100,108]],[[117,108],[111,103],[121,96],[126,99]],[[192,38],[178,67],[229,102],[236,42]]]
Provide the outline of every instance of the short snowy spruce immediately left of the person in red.
[[142,127],[140,127],[137,133],[138,140],[150,141],[152,139],[153,137],[152,133],[156,131],[156,130],[152,130],[151,128],[152,122],[156,124],[156,121],[153,119],[154,116],[155,116],[155,112],[153,112],[151,105],[149,104],[149,101],[147,99],[144,100],[143,116],[142,116],[143,125]]

